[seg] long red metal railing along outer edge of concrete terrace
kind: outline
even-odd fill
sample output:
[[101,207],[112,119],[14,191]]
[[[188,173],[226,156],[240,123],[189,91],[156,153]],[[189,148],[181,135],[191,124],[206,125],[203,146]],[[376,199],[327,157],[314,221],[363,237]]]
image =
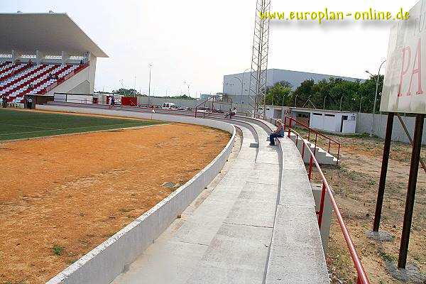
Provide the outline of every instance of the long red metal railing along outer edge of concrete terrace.
[[[291,120],[290,120],[290,122],[291,122]],[[295,131],[291,127],[292,127],[292,124],[290,123],[288,125],[288,137],[290,138],[290,133],[293,131],[293,133],[296,134],[296,142],[295,143],[297,145],[298,137],[300,136],[300,134],[297,133],[297,131]],[[368,280],[366,272],[364,271],[364,267],[362,266],[361,260],[359,259],[359,255],[356,252],[356,249],[355,249],[355,246],[354,246],[354,242],[351,239],[351,236],[349,234],[348,228],[346,227],[346,224],[344,224],[344,220],[342,218],[342,213],[340,212],[340,209],[337,206],[336,200],[334,200],[333,192],[332,192],[332,190],[329,187],[329,184],[327,182],[327,179],[324,176],[324,173],[322,173],[322,170],[320,168],[320,164],[318,163],[317,158],[315,158],[315,154],[312,153],[312,150],[307,145],[307,141],[305,141],[305,139],[301,139],[301,140],[302,140],[302,143],[303,143],[303,149],[307,148],[307,151],[309,151],[309,153],[310,153],[309,170],[308,170],[308,173],[307,173],[307,176],[308,176],[309,180],[312,179],[312,165],[314,165],[314,164],[315,164],[315,167],[318,170],[318,173],[320,173],[320,177],[321,177],[321,180],[322,180],[322,191],[321,191],[321,200],[320,200],[320,210],[316,212],[317,215],[318,215],[318,226],[320,226],[320,229],[321,229],[322,215],[323,215],[323,212],[324,212],[325,194],[327,193],[327,195],[329,196],[329,200],[332,203],[332,207],[334,209],[334,213],[336,213],[337,222],[339,222],[340,229],[342,229],[342,234],[344,236],[344,240],[346,241],[346,246],[348,246],[349,254],[351,255],[352,261],[354,262],[354,266],[355,266],[355,269],[356,269],[356,274],[358,275],[357,283],[359,283],[359,284],[360,283],[361,284],[369,284],[370,282]],[[302,155],[302,159],[303,159],[304,155],[305,155],[305,151],[302,151],[301,155]]]

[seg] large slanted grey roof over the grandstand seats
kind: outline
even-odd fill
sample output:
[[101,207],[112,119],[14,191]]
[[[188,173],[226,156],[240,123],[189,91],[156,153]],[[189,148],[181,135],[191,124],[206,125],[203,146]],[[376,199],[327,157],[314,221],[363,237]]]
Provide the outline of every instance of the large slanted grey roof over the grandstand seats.
[[108,57],[66,13],[0,13],[0,50]]

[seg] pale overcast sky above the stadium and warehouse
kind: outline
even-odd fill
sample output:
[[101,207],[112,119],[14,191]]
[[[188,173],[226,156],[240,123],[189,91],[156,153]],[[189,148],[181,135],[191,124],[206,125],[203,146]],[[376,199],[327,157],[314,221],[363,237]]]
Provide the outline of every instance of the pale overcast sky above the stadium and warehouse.
[[[417,0],[271,0],[271,11],[409,11]],[[104,50],[95,89],[151,95],[222,92],[251,66],[256,0],[0,0],[1,13],[67,13]],[[268,67],[366,79],[386,60],[391,23],[271,22]],[[382,69],[382,73],[384,68]]]

